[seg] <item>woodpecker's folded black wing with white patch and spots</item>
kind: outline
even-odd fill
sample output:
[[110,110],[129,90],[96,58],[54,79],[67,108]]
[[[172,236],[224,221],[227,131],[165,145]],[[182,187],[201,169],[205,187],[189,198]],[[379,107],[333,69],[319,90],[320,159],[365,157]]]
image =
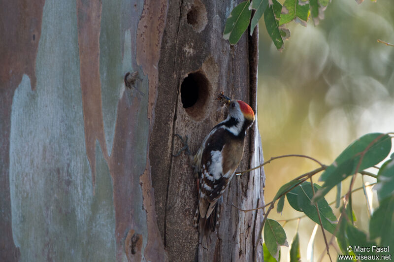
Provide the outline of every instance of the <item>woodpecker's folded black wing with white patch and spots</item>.
[[201,217],[208,218],[241,161],[244,139],[216,127],[202,146],[199,211]]

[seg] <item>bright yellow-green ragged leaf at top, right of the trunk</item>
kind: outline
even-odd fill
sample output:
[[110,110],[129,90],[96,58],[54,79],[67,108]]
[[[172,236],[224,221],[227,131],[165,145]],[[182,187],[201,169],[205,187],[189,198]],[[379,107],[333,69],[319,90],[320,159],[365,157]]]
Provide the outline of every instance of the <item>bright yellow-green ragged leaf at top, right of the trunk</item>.
[[298,0],[286,0],[283,3],[279,26],[295,20],[306,27],[309,13],[309,4],[299,4]]

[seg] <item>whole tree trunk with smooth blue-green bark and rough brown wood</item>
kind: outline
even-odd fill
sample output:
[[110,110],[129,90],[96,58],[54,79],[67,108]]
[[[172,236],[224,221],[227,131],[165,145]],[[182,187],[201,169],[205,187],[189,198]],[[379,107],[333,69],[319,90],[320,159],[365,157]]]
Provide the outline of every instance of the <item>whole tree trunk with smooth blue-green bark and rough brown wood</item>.
[[[204,249],[192,169],[171,157],[175,133],[195,153],[225,117],[220,91],[256,112],[257,33],[222,39],[234,3],[1,6],[0,260],[252,261],[262,211],[231,203],[262,205],[263,172],[232,179]],[[262,159],[256,123],[239,169]]]

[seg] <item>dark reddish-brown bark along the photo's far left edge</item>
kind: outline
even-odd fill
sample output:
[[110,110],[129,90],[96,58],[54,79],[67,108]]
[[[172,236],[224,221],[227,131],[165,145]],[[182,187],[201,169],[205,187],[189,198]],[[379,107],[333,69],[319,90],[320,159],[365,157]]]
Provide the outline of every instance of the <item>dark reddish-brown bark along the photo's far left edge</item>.
[[0,5],[3,6],[0,8],[0,260],[18,261],[20,250],[15,247],[12,236],[8,175],[11,105],[23,74],[31,78],[32,89],[35,89],[35,56],[44,0],[2,0]]

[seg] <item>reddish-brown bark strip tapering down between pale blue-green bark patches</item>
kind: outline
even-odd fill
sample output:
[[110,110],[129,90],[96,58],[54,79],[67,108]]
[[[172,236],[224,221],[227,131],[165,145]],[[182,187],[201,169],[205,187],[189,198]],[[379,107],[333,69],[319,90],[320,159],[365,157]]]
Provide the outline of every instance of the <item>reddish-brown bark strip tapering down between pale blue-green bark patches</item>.
[[77,0],[78,45],[82,108],[85,126],[86,155],[92,169],[92,184],[96,181],[96,139],[108,162],[107,145],[102,120],[100,78],[100,22],[101,2]]

